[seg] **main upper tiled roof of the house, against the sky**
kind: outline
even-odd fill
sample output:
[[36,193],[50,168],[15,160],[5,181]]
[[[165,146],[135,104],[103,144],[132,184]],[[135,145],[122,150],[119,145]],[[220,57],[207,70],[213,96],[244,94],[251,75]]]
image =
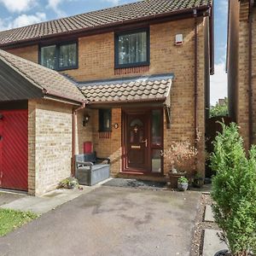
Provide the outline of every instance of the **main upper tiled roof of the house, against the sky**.
[[113,8],[92,11],[59,20],[23,26],[0,32],[0,45],[15,44],[22,41],[49,38],[57,34],[81,32],[98,27],[114,26],[138,19],[147,20],[159,15],[184,13],[189,9],[209,7],[212,0],[153,0],[138,1]]

